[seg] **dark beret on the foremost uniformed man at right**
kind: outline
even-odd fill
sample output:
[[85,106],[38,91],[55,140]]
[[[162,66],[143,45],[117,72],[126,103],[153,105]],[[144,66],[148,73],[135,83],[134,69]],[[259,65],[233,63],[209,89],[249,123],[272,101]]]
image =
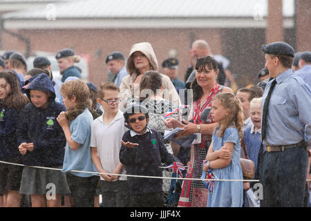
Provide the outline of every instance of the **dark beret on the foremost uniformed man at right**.
[[261,46],[261,50],[268,55],[288,55],[290,57],[294,57],[295,55],[294,48],[283,41],[276,41],[267,46],[263,45]]

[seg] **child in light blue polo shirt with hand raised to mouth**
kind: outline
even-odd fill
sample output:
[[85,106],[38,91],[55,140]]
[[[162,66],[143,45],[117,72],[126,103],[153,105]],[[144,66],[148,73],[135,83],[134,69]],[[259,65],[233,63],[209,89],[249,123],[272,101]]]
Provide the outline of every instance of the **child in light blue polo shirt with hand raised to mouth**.
[[61,93],[67,111],[57,117],[66,137],[64,166],[68,186],[75,207],[93,207],[94,196],[99,177],[91,160],[91,124],[93,116],[88,108],[91,106],[88,86],[81,79],[62,84]]

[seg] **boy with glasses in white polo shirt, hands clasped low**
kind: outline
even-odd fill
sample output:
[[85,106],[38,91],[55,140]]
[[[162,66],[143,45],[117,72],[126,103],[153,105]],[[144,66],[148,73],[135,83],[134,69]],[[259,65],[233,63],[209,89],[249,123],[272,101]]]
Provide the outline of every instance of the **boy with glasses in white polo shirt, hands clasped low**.
[[[104,113],[95,119],[91,126],[91,157],[100,173],[126,174],[120,163],[120,140],[128,130],[124,126],[124,117],[119,110],[120,89],[112,82],[104,82],[98,90],[97,102]],[[126,176],[100,176],[102,206],[128,206]]]

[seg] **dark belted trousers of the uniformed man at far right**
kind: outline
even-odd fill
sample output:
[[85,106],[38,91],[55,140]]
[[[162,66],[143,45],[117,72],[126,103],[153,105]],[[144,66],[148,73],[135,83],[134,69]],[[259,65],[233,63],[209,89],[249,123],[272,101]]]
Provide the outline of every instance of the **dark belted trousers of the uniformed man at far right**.
[[261,207],[303,207],[308,153],[304,146],[263,153],[259,182]]

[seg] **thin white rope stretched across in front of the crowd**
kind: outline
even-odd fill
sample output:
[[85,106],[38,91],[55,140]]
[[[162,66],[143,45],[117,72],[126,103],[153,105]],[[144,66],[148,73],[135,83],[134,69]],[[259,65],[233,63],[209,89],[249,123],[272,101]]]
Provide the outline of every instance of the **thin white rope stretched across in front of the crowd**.
[[[23,164],[16,164],[12,162],[5,162],[0,161],[0,163],[3,164],[11,164],[15,166],[25,166],[25,167],[32,167],[37,169],[48,169],[48,170],[54,170],[54,171],[62,171],[62,169],[52,168],[52,167],[44,167],[44,166],[26,166]],[[164,167],[161,167],[164,168]],[[147,176],[147,175],[129,175],[129,174],[115,174],[115,173],[99,173],[99,172],[90,172],[90,171],[68,171],[68,172],[74,172],[74,173],[90,173],[94,175],[118,175],[118,176],[126,176],[126,177],[141,177],[141,178],[153,178],[153,179],[167,179],[167,180],[212,180],[212,181],[220,181],[220,182],[259,182],[259,180],[225,180],[225,179],[200,179],[200,178],[182,178],[182,177],[156,177],[156,176]],[[311,181],[311,180],[306,180]]]

